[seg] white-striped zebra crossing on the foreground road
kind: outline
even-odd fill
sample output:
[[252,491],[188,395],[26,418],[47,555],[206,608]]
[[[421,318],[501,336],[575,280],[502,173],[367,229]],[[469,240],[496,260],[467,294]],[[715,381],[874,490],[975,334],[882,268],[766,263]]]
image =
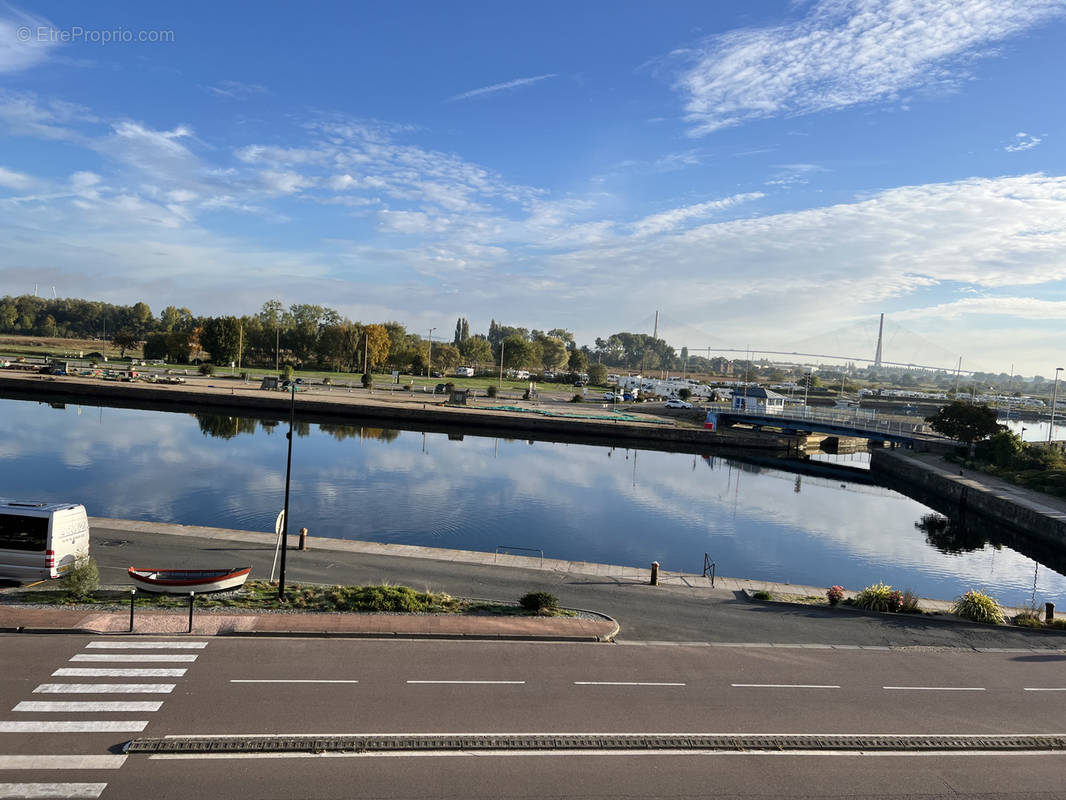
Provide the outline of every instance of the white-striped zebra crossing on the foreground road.
[[[177,683],[117,683],[114,678],[181,678],[189,667],[165,665],[192,665],[208,645],[207,641],[142,641],[96,640],[85,644],[83,652],[75,654],[70,663],[59,667],[53,678],[82,678],[78,683],[43,683],[31,692],[34,698],[20,700],[11,710],[14,719],[0,718],[0,800],[96,800],[107,782],[80,782],[45,780],[41,782],[4,782],[7,771],[45,773],[80,770],[117,770],[126,763],[126,755],[100,753],[55,752],[54,734],[131,734],[148,726],[149,719],[126,719],[123,715],[152,714],[159,711],[164,700],[141,699],[143,695],[171,694]],[[102,651],[102,652],[101,652]],[[55,700],[41,699],[53,695]],[[90,695],[85,700],[66,699],[63,695]],[[98,695],[98,697],[92,697]],[[113,699],[110,699],[113,698]],[[79,719],[79,715],[118,715],[115,719]],[[30,718],[29,715],[41,715]],[[67,715],[60,718],[58,715]],[[12,734],[17,739],[5,739]],[[69,739],[61,739],[69,750]],[[3,742],[17,741],[25,750],[32,742],[39,754],[4,754]],[[85,739],[86,745],[91,741]],[[39,745],[39,747],[38,747]],[[75,777],[75,775],[71,775]],[[81,777],[81,775],[77,775]],[[87,777],[87,775],[86,775]],[[59,775],[55,777],[56,779]]]

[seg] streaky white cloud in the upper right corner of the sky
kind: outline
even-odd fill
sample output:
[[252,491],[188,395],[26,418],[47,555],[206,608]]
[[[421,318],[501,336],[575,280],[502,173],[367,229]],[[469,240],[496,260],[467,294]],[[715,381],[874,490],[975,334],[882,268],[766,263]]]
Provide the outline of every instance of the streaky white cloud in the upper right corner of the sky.
[[1062,0],[819,0],[808,16],[704,39],[676,55],[692,134],[950,86],[969,60],[1052,16]]

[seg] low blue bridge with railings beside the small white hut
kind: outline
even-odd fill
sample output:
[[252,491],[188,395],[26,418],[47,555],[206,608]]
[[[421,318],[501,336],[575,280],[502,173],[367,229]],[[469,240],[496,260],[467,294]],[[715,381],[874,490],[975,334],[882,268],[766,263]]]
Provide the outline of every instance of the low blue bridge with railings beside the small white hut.
[[933,433],[921,418],[886,416],[876,411],[812,409],[786,409],[780,414],[761,414],[734,411],[731,407],[710,409],[720,423],[740,422],[755,428],[780,428],[785,433],[827,433],[834,436],[854,436],[874,442],[891,442],[914,447],[916,441],[949,442]]

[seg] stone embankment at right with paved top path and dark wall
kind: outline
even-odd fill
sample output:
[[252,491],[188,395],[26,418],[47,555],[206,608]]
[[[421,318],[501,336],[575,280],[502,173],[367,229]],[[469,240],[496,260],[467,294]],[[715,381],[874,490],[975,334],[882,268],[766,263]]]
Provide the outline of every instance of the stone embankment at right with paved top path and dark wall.
[[1066,544],[1066,500],[964,469],[933,453],[877,450],[870,464],[887,485],[955,518],[990,519],[1043,542]]

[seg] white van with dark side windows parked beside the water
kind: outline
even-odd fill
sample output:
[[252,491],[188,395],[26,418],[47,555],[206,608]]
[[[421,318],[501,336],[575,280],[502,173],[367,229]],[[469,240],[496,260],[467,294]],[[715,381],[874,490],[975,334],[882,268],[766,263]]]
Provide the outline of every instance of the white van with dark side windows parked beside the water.
[[0,498],[0,578],[58,578],[87,555],[84,506]]

